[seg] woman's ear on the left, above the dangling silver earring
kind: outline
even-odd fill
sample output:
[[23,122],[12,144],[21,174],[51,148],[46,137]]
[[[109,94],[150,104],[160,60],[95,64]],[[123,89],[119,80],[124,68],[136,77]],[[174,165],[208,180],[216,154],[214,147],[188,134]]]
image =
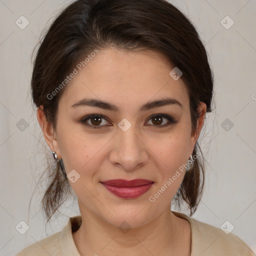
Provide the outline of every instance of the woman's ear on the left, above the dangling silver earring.
[[52,123],[49,123],[48,120],[45,117],[45,114],[43,112],[43,106],[40,105],[37,107],[37,120],[39,122],[39,125],[41,127],[44,139],[46,143],[48,144],[51,151],[55,151],[57,153],[58,158],[61,158],[59,146],[56,138],[56,133],[53,130]]

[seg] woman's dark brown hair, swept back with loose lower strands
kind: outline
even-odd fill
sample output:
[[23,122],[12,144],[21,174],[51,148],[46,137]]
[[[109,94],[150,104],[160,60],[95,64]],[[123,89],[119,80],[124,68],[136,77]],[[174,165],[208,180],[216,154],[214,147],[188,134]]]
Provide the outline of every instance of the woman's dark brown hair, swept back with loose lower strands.
[[[127,50],[154,50],[163,54],[173,67],[182,71],[180,77],[189,92],[192,131],[198,119],[199,101],[211,112],[213,75],[206,50],[199,35],[180,10],[165,0],[76,0],[65,7],[45,34],[33,65],[31,78],[32,99],[37,107],[43,106],[47,121],[56,126],[58,101],[64,86],[48,99],[58,84],[87,54],[114,46]],[[193,155],[201,152],[198,142]],[[204,158],[193,161],[190,171],[174,197],[178,207],[186,202],[190,215],[194,213],[202,195]],[[63,203],[63,195],[70,185],[59,170],[49,168],[49,184],[41,200],[48,218]]]

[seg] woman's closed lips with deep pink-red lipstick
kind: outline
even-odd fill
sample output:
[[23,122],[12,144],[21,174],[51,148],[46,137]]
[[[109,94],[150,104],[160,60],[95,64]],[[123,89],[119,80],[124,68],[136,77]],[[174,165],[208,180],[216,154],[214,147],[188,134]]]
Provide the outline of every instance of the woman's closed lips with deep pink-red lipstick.
[[121,198],[136,198],[145,193],[154,183],[147,179],[110,179],[100,182],[109,192]]

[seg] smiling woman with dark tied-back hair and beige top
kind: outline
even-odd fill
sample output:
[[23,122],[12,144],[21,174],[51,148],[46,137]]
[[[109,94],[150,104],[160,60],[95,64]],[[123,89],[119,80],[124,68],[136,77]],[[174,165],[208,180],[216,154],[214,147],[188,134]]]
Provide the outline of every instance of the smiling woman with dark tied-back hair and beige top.
[[[204,164],[197,143],[213,78],[190,21],[164,0],[76,0],[36,54],[32,97],[56,160],[42,205],[63,194],[81,215],[17,255],[254,255],[194,213]],[[173,199],[173,200],[172,200]]]

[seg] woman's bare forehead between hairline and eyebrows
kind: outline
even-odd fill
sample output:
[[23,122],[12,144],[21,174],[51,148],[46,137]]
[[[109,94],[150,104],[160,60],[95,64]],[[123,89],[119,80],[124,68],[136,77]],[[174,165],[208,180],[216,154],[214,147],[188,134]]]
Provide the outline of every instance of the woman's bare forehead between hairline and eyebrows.
[[151,50],[101,49],[78,70],[60,100],[71,105],[83,97],[93,97],[118,105],[141,105],[171,96],[182,105],[188,104],[186,85],[169,75],[172,68],[163,55]]

